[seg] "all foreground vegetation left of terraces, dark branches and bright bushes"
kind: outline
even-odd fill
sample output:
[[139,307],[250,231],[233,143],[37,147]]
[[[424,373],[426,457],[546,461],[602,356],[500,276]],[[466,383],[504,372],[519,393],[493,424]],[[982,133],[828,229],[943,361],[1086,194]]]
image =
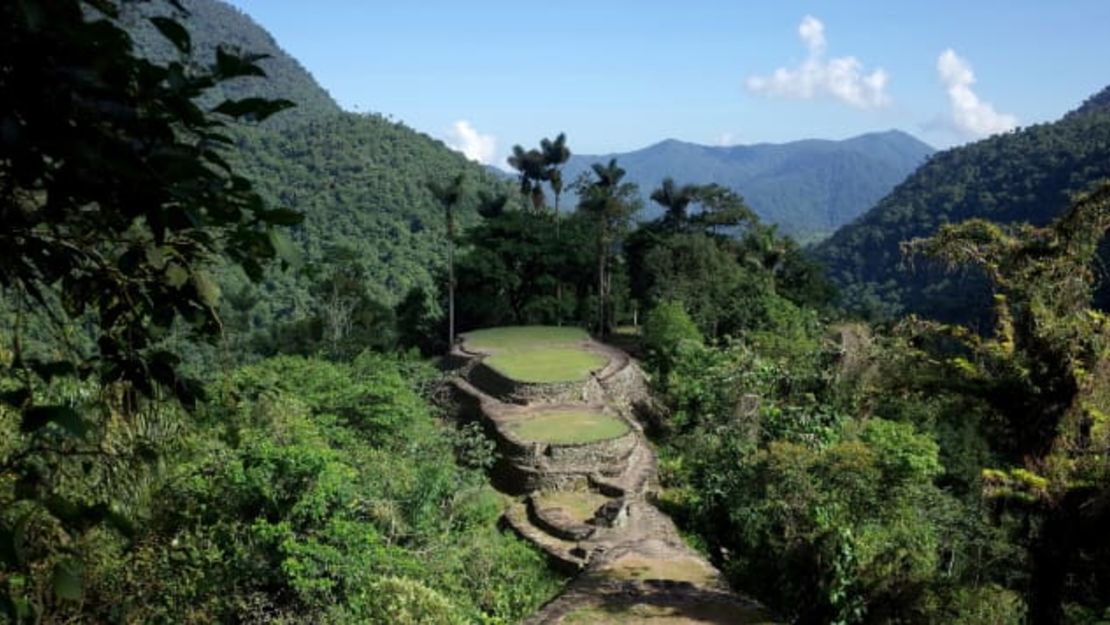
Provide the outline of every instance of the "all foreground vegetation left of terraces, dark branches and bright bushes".
[[[229,135],[293,103],[221,100],[258,59],[189,61],[172,16],[150,23],[180,57],[137,57],[115,11],[0,9],[0,622],[535,609],[558,579],[496,530],[492,450],[436,419],[426,364],[334,332],[291,342],[315,357],[235,364],[263,354],[224,324],[216,276],[280,284],[305,226],[236,173]],[[329,296],[370,288],[341,262],[319,282],[307,305],[333,321]]]

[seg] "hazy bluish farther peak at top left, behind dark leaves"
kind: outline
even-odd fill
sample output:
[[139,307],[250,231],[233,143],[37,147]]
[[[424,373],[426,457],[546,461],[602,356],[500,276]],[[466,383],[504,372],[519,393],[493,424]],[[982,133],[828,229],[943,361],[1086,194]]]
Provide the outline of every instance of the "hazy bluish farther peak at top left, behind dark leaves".
[[[219,44],[239,48],[251,54],[270,58],[259,64],[266,72],[264,81],[242,78],[220,87],[212,101],[224,98],[285,98],[296,102],[296,108],[274,115],[266,121],[269,128],[279,128],[309,119],[340,112],[339,104],[309,70],[278,44],[274,38],[250,16],[219,0],[182,0],[189,11],[182,21],[192,38],[193,58],[202,63],[215,60]],[[164,62],[174,58],[170,42],[147,20],[148,17],[170,13],[165,0],[124,3],[121,20],[134,40],[135,48],[145,57]]]

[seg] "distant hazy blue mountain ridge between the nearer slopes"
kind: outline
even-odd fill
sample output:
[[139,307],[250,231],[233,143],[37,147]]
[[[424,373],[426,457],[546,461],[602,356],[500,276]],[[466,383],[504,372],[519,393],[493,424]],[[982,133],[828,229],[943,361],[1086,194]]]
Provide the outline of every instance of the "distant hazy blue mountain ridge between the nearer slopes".
[[658,206],[646,201],[647,195],[669,175],[683,183],[716,182],[734,189],[764,221],[813,239],[874,205],[930,153],[931,148],[899,131],[844,141],[810,139],[734,147],[667,140],[635,152],[574,155],[564,179],[574,180],[592,163],[616,158],[644,194],[642,218],[659,213]]

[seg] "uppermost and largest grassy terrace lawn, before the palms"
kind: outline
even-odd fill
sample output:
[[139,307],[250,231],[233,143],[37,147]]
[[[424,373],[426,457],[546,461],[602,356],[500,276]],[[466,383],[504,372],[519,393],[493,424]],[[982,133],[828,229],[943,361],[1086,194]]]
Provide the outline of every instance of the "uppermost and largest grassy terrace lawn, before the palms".
[[603,369],[605,356],[581,347],[587,339],[581,327],[547,325],[491,327],[465,335],[467,349],[491,354],[485,360],[490,366],[513,380],[539,384],[585,380]]

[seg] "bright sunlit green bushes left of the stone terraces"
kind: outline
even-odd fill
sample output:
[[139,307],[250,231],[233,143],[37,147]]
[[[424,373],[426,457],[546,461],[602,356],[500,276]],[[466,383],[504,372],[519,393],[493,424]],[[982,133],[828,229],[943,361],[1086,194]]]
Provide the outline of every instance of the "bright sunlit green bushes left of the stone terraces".
[[[29,579],[14,598],[51,583],[62,598],[80,594],[81,578],[82,603],[50,605],[56,617],[521,618],[557,581],[537,553],[496,530],[502,503],[484,475],[455,465],[455,436],[414,391],[432,375],[370,354],[351,364],[281,357],[236,371],[178,451],[162,456],[164,473],[138,488],[142,523],[130,540],[85,536],[83,575],[57,561],[52,577]],[[85,485],[80,473],[59,480]],[[4,488],[0,497],[11,495]],[[3,514],[21,510],[6,505]],[[29,535],[22,548],[37,554],[50,540]]]

